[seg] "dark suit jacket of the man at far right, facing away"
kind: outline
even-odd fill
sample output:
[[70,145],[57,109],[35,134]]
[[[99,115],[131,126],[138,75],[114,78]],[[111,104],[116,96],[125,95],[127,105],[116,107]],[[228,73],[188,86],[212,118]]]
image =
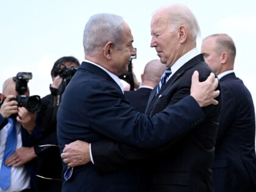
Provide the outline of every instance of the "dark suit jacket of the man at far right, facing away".
[[251,93],[235,73],[220,79],[222,113],[213,163],[216,192],[256,191],[255,112]]

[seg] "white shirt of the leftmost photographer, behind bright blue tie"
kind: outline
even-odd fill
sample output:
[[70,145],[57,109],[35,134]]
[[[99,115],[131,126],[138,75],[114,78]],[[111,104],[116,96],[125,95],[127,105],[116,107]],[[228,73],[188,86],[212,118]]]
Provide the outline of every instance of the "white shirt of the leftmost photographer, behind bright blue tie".
[[[0,169],[2,166],[2,158],[4,156],[4,149],[5,149],[5,143],[7,138],[8,130],[10,129],[11,124],[7,123],[3,129],[0,130]],[[22,147],[22,141],[21,141],[21,124],[17,123],[15,124],[16,132],[17,132],[17,148]],[[1,178],[0,178],[1,179]],[[25,169],[24,165],[13,167],[11,168],[11,179],[10,179],[10,187],[3,191],[0,187],[0,192],[15,192],[15,191],[22,191],[27,188],[30,188],[30,177],[29,174],[27,174],[27,171]]]

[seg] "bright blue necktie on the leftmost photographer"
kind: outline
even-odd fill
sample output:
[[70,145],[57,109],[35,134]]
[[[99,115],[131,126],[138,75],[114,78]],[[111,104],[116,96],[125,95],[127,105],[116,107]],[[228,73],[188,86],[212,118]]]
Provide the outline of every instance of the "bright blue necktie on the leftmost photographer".
[[4,191],[10,187],[10,174],[12,169],[12,166],[5,165],[5,160],[15,152],[17,145],[17,134],[15,127],[16,121],[13,118],[8,118],[8,121],[11,124],[11,126],[7,133],[7,139],[4,148],[4,156],[2,158],[2,165],[0,170],[0,187]]

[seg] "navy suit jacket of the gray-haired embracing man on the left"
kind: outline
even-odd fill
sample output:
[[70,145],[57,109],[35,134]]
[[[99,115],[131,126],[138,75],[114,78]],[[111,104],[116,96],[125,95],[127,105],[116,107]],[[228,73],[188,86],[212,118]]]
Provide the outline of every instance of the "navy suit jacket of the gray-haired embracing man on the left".
[[[76,140],[92,143],[111,138],[133,147],[157,148],[193,129],[203,118],[202,109],[191,96],[157,115],[143,115],[130,107],[112,77],[83,62],[63,93],[57,136],[61,146]],[[74,168],[62,191],[142,191],[142,182],[143,178],[129,167],[101,173],[88,163]]]

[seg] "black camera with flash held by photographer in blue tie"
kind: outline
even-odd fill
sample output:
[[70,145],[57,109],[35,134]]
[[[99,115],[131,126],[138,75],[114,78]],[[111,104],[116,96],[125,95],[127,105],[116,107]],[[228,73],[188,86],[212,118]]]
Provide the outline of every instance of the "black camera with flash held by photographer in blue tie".
[[25,96],[24,93],[27,91],[27,82],[32,79],[32,73],[20,72],[17,73],[16,77],[13,77],[15,81],[15,90],[18,92],[15,101],[18,102],[19,107],[25,107],[30,112],[37,112],[41,107],[40,96]]

